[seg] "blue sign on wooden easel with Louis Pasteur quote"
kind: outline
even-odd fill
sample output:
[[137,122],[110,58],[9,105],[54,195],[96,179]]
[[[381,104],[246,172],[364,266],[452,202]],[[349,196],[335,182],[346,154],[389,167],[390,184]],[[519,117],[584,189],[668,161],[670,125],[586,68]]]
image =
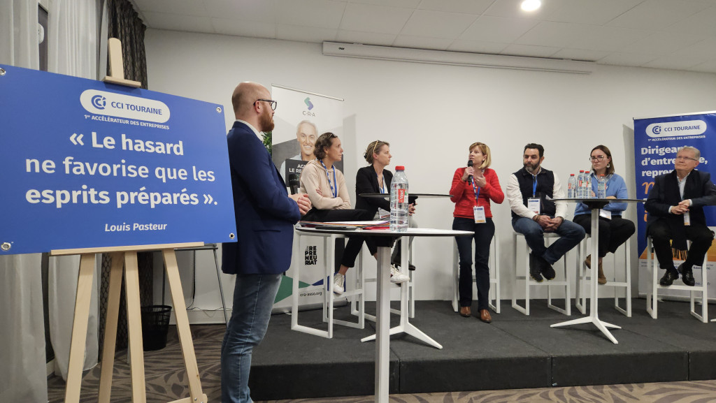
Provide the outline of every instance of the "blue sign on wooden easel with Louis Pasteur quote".
[[0,65],[0,254],[234,241],[222,109]]

